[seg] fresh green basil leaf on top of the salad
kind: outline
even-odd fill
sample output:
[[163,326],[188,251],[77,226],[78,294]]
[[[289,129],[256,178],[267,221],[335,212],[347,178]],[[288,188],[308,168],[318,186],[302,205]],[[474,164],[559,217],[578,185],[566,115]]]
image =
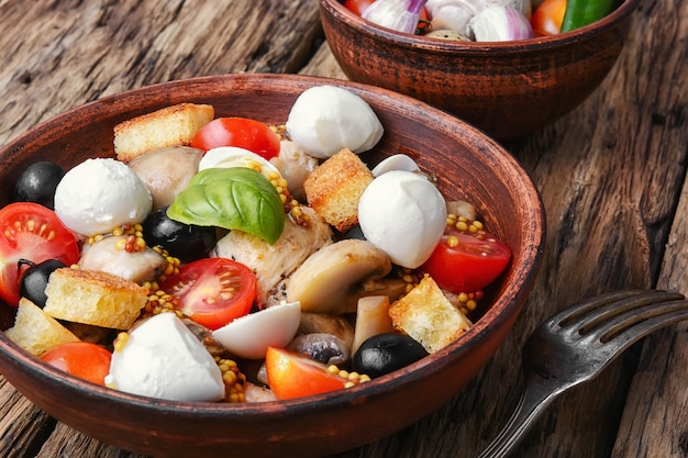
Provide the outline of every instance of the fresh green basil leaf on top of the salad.
[[185,224],[247,232],[270,245],[285,228],[279,193],[263,174],[246,167],[199,171],[169,205],[167,216]]

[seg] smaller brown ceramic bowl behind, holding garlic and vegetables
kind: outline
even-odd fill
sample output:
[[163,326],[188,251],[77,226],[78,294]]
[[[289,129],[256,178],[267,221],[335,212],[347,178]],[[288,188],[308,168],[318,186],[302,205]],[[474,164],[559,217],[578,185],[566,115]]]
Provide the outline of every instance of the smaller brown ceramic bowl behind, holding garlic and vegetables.
[[351,80],[414,97],[501,141],[540,130],[590,96],[617,62],[639,3],[624,0],[607,18],[558,36],[503,43],[397,33],[337,0],[320,0],[320,15]]

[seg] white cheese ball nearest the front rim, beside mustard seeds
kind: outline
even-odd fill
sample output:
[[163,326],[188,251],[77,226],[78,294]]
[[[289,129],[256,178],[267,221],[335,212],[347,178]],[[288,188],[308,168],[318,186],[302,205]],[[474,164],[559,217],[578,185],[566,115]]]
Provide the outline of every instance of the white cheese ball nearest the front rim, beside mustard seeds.
[[106,384],[170,401],[214,402],[224,398],[214,358],[174,313],[160,313],[131,332],[114,350]]

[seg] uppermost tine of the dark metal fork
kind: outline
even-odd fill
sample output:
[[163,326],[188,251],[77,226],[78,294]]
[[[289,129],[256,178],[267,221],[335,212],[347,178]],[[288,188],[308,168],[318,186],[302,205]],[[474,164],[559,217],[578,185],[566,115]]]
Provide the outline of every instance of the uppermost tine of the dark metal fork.
[[588,329],[599,323],[619,315],[628,310],[652,303],[685,299],[684,294],[663,290],[625,290],[615,291],[580,301],[547,320],[551,327],[576,327]]

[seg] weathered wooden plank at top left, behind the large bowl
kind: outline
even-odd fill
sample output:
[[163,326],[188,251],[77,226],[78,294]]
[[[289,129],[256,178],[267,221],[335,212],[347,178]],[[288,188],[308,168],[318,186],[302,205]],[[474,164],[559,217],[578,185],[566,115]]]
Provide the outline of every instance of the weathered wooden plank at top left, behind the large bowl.
[[38,121],[136,87],[296,71],[321,34],[313,0],[7,1],[0,24],[0,144]]

